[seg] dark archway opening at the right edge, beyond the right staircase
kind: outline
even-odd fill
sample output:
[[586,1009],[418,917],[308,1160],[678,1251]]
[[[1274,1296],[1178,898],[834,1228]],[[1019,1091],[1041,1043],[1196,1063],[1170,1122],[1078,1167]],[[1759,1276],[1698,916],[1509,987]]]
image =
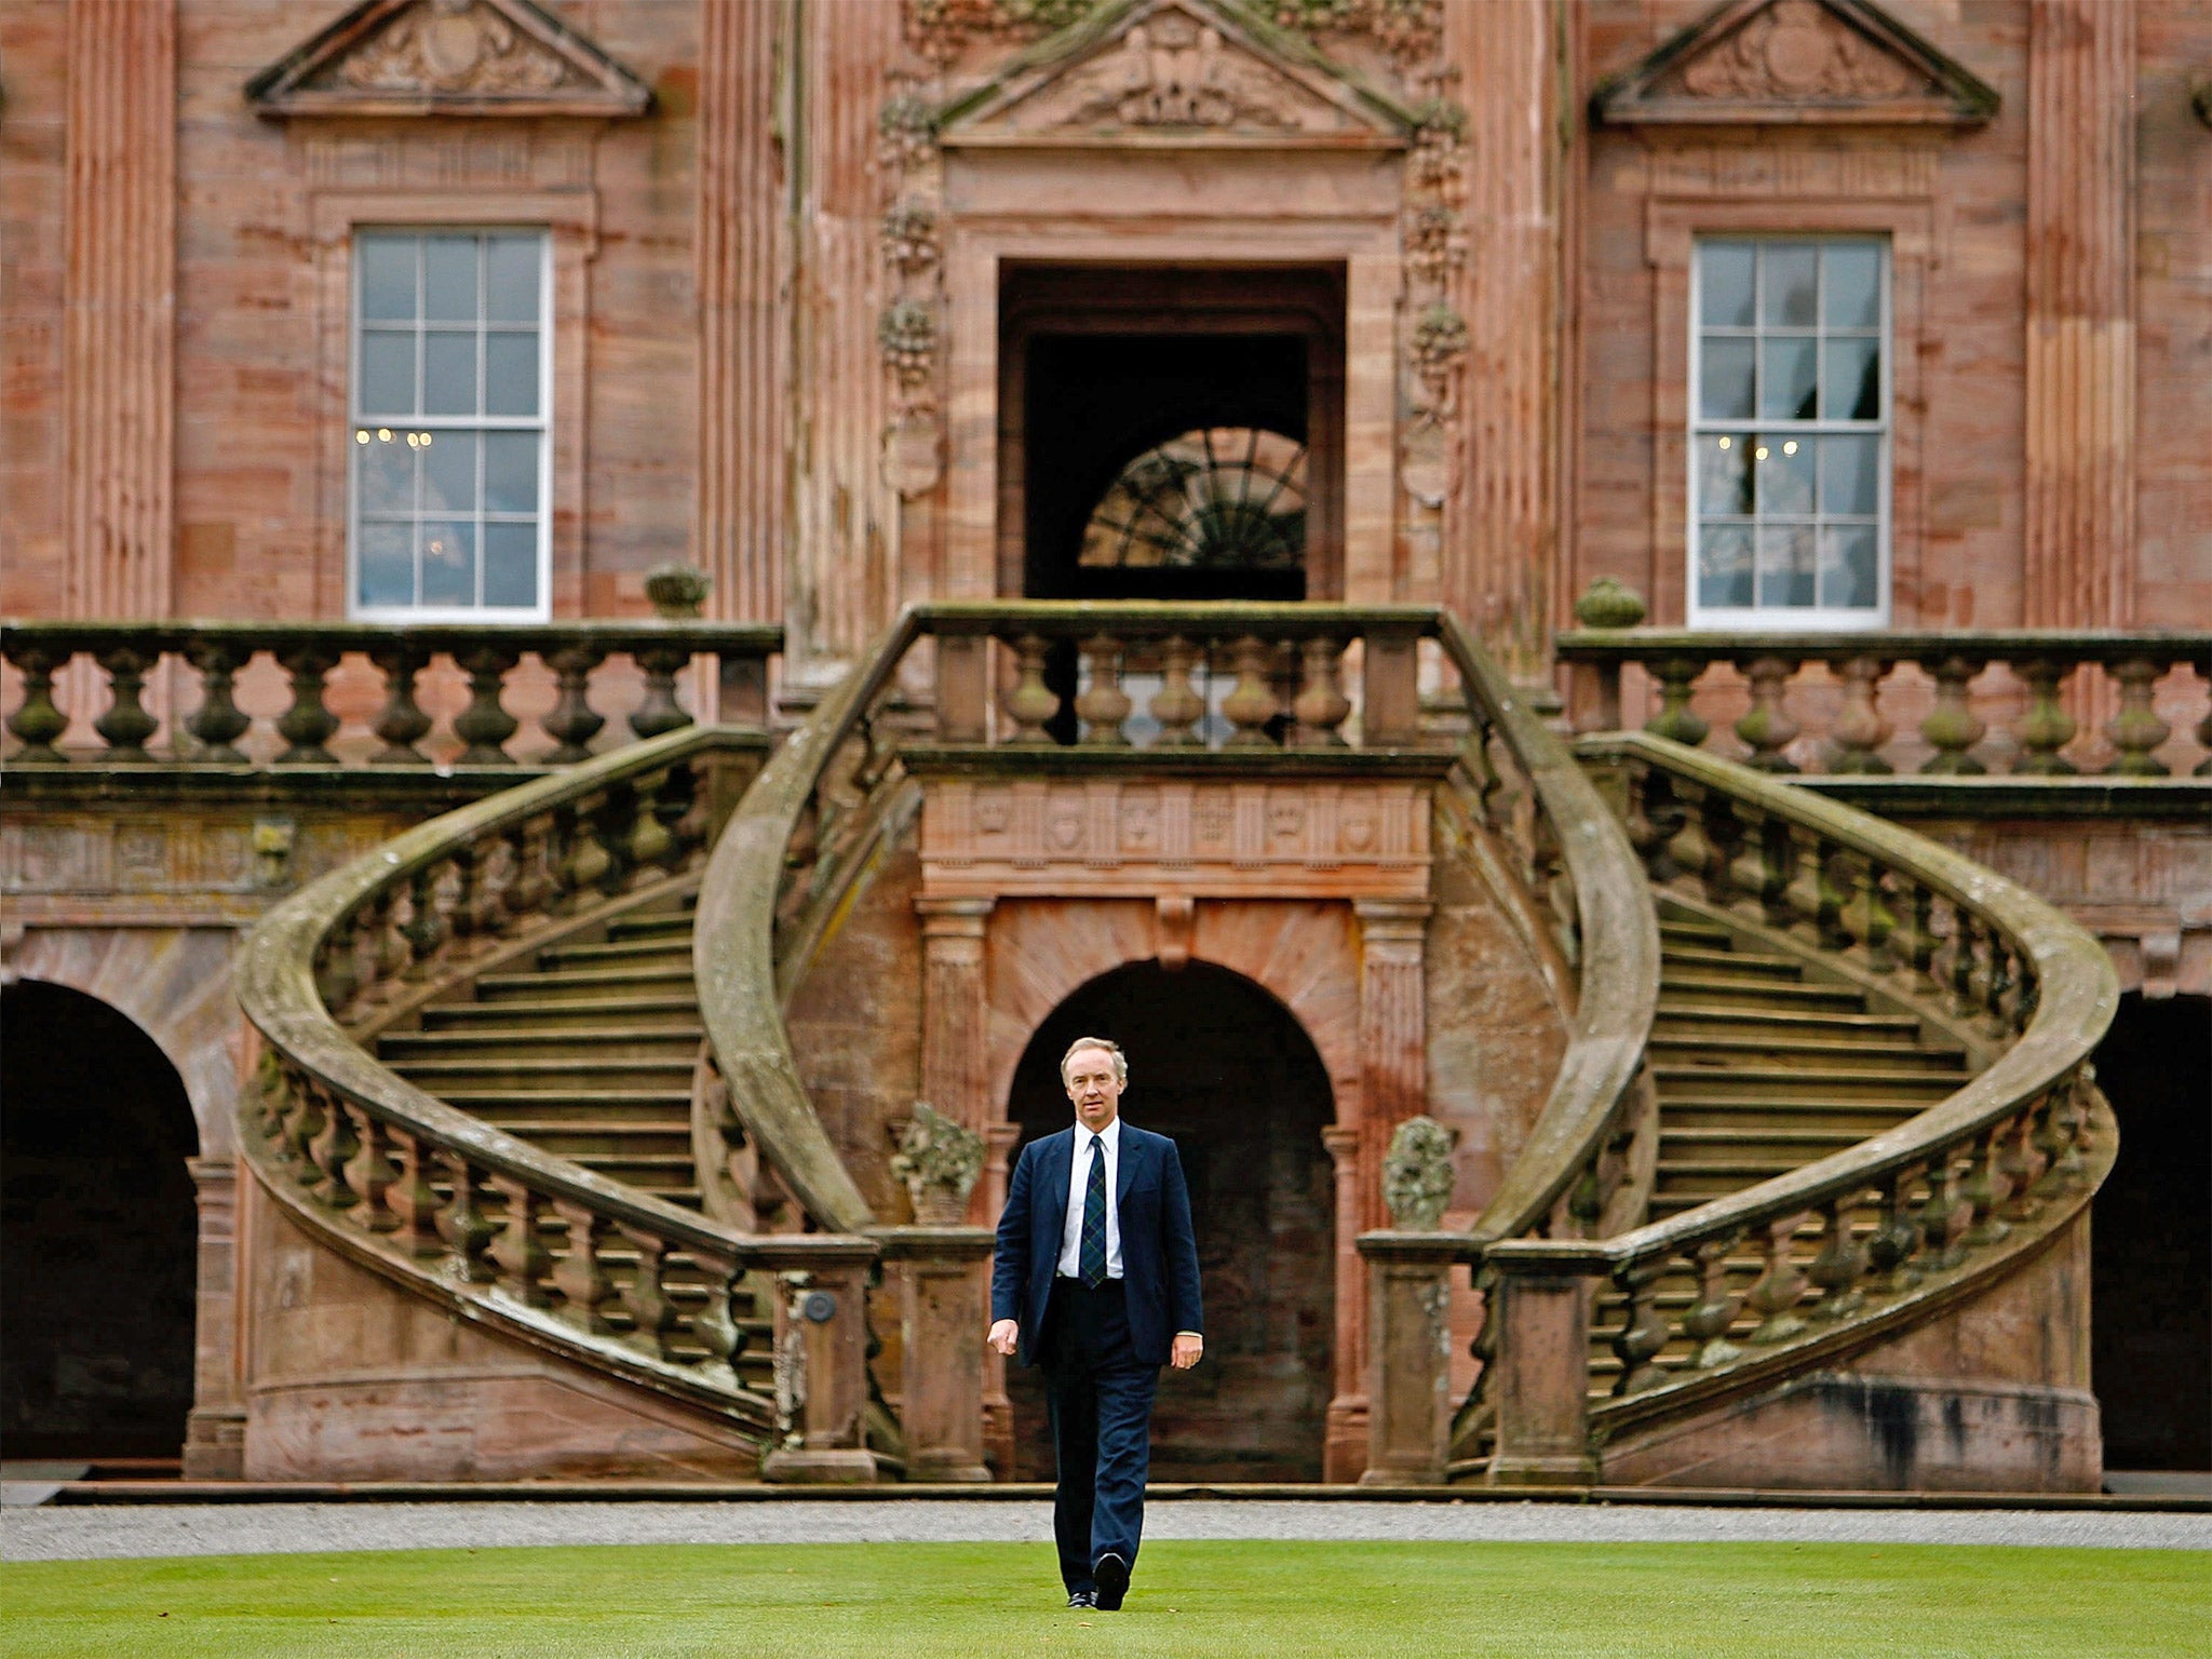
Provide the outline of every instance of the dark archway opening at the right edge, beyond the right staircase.
[[2119,1117],[2090,1219],[2104,1467],[2212,1471],[2212,998],[2121,998],[2097,1084]]

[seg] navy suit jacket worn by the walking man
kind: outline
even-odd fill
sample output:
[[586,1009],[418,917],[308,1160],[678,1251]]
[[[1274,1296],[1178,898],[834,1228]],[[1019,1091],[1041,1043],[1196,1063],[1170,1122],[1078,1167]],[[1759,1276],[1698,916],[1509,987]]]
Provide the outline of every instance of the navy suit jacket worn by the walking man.
[[[1060,1270],[1073,1168],[1073,1124],[1031,1141],[1013,1166],[1006,1208],[998,1217],[991,1318],[1022,1323],[1022,1365],[1037,1363],[1044,1305]],[[1121,1283],[1128,1298],[1130,1345],[1139,1365],[1166,1365],[1177,1332],[1206,1332],[1199,1305],[1199,1243],[1190,1232],[1190,1188],[1183,1183],[1183,1159],[1177,1157],[1175,1141],[1128,1119],[1121,1119],[1115,1212],[1121,1223]]]

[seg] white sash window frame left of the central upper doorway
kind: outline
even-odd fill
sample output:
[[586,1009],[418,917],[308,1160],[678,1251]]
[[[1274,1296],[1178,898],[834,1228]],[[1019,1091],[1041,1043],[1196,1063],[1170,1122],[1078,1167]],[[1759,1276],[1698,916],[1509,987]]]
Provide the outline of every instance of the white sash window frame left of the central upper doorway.
[[[365,237],[538,237],[538,414],[535,416],[409,416],[392,427],[389,416],[361,414],[361,243]],[[480,622],[531,624],[553,619],[553,422],[560,414],[553,387],[553,261],[555,228],[549,223],[354,223],[345,248],[347,334],[345,334],[345,613],[356,622]],[[482,330],[484,319],[478,316]],[[422,338],[420,321],[416,341]],[[482,358],[478,376],[484,374]],[[416,403],[422,400],[422,358],[416,352]],[[480,398],[482,400],[482,398]],[[365,606],[361,604],[361,453],[356,431],[535,431],[538,434],[538,604],[533,606]],[[482,529],[482,495],[478,495],[478,529]],[[478,586],[482,586],[484,546],[476,549]]]

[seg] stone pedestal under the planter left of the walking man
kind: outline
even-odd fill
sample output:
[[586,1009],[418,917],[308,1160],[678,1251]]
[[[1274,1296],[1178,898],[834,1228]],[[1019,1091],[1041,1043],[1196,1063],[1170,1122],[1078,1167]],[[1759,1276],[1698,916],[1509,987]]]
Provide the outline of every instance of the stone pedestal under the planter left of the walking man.
[[887,1261],[905,1265],[898,1296],[907,1356],[907,1480],[989,1480],[982,1356],[991,1270],[989,1228],[876,1228]]

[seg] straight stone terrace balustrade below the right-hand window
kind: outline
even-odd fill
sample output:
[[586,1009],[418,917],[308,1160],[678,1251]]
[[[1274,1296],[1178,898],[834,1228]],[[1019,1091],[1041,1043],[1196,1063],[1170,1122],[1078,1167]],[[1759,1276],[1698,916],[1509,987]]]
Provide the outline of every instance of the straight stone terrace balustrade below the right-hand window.
[[[1635,664],[1652,677],[1659,697],[1644,730],[1692,748],[1712,732],[1705,714],[1692,708],[1699,679],[1708,668],[1732,666],[1750,699],[1732,730],[1750,750],[1747,765],[1761,772],[1880,776],[1918,754],[1918,772],[1944,779],[1982,776],[1997,765],[2020,779],[2057,779],[2093,763],[2108,776],[2161,779],[2188,770],[2190,745],[2170,739],[2192,723],[2194,748],[2203,750],[2194,776],[2212,776],[2212,633],[1586,628],[1559,635],[1557,655],[1571,668],[1568,708],[1577,732],[1619,730],[1621,668]],[[1898,675],[1907,664],[1924,679],[1907,684]],[[1827,686],[1803,679],[1812,666],[1827,668]],[[1978,688],[1991,668],[2008,670],[2011,686],[1997,675]],[[2179,668],[2192,670],[2194,690]],[[2093,679],[2115,688],[2101,730],[2110,754],[2081,752],[2093,734],[2070,708]],[[1918,743],[1893,743],[1893,717],[1907,712],[1918,714]],[[2068,759],[2068,745],[2077,745],[2079,759]],[[2170,759],[2159,757],[2161,748]]]

